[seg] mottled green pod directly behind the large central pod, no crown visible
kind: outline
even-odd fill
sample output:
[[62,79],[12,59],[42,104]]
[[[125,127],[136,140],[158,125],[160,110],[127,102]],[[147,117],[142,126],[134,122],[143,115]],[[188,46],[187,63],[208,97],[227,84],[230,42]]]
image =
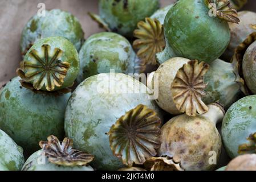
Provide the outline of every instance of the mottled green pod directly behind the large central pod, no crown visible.
[[109,73],[139,73],[139,59],[131,44],[123,36],[101,32],[90,36],[79,52],[80,73],[78,82],[97,75]]

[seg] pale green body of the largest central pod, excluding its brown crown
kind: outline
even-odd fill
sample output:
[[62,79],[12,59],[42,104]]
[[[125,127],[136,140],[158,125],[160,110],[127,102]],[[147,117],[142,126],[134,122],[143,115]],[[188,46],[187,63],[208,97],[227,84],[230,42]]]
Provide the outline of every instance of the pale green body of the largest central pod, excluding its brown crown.
[[107,134],[127,111],[143,104],[157,111],[162,118],[155,101],[148,100],[146,90],[141,82],[123,73],[101,73],[84,80],[72,93],[65,113],[64,129],[68,138],[73,139],[74,148],[95,156],[92,162],[94,168],[117,170],[123,167],[121,160],[111,151]]

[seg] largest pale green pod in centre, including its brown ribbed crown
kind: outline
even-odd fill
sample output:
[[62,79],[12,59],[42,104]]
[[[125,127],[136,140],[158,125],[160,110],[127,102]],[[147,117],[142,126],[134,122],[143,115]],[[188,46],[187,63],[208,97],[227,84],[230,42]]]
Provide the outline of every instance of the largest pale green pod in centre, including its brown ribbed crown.
[[[78,150],[90,152],[95,156],[92,164],[96,169],[117,170],[124,166],[119,158],[131,166],[133,163],[143,164],[145,158],[156,154],[154,148],[157,148],[160,142],[159,129],[157,130],[160,119],[153,110],[162,118],[155,102],[149,100],[144,84],[123,73],[101,73],[84,80],[72,93],[65,113],[64,129],[67,136],[74,140],[74,146]],[[131,122],[130,125],[125,125],[127,121]],[[122,126],[132,128],[119,135]],[[154,133],[148,132],[146,136],[147,132],[140,134],[141,130],[151,129]],[[129,134],[128,131],[133,133]],[[137,134],[144,140],[130,141],[135,148],[130,148],[129,155],[129,145],[126,144]],[[125,144],[121,147],[122,150],[115,151],[120,144],[115,142],[115,139],[120,139],[118,141]],[[145,144],[145,151],[138,147],[140,144]]]

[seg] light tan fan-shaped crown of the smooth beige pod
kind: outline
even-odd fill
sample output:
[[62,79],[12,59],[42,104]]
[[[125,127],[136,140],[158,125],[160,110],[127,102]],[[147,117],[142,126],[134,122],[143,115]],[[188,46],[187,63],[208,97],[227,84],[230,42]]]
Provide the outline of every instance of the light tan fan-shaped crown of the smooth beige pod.
[[205,96],[204,75],[209,65],[198,60],[191,60],[178,70],[171,85],[172,98],[177,109],[189,116],[204,114],[208,107],[202,101]]

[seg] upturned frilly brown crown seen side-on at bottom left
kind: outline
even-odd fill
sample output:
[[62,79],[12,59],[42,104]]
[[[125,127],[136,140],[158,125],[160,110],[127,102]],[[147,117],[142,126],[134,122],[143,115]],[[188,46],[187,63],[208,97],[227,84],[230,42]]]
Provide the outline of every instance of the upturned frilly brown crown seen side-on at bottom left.
[[68,138],[64,138],[62,144],[60,144],[59,139],[54,135],[50,135],[47,138],[47,142],[39,142],[39,146],[48,158],[48,161],[53,164],[60,166],[84,166],[94,160],[93,155],[72,149],[72,145],[72,140]]

